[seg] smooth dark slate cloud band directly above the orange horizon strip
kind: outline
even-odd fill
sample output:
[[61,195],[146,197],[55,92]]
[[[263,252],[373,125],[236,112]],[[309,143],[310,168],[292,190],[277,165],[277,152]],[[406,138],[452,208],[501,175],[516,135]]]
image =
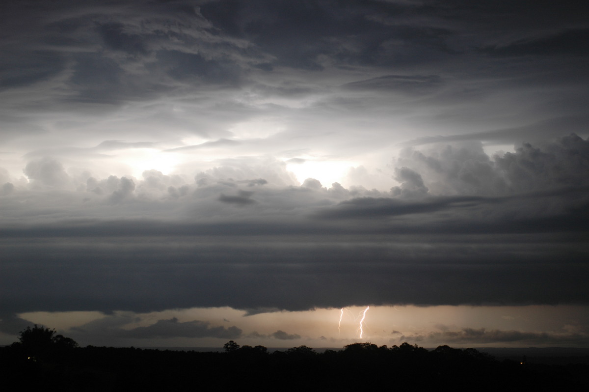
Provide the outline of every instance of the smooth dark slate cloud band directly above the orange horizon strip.
[[317,235],[315,241],[269,234],[255,242],[227,236],[12,239],[3,242],[9,262],[3,265],[2,308],[585,304],[584,238],[570,233],[454,238],[396,233]]

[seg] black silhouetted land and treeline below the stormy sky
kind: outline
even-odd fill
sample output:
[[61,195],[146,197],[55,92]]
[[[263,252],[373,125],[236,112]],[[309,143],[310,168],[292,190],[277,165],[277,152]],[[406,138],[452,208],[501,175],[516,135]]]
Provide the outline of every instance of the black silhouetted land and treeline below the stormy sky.
[[[316,353],[226,345],[224,353],[92,347],[25,353],[0,348],[1,377],[14,390],[395,390],[587,391],[589,364],[495,359],[474,349],[369,343]],[[30,358],[29,358],[30,357]]]

